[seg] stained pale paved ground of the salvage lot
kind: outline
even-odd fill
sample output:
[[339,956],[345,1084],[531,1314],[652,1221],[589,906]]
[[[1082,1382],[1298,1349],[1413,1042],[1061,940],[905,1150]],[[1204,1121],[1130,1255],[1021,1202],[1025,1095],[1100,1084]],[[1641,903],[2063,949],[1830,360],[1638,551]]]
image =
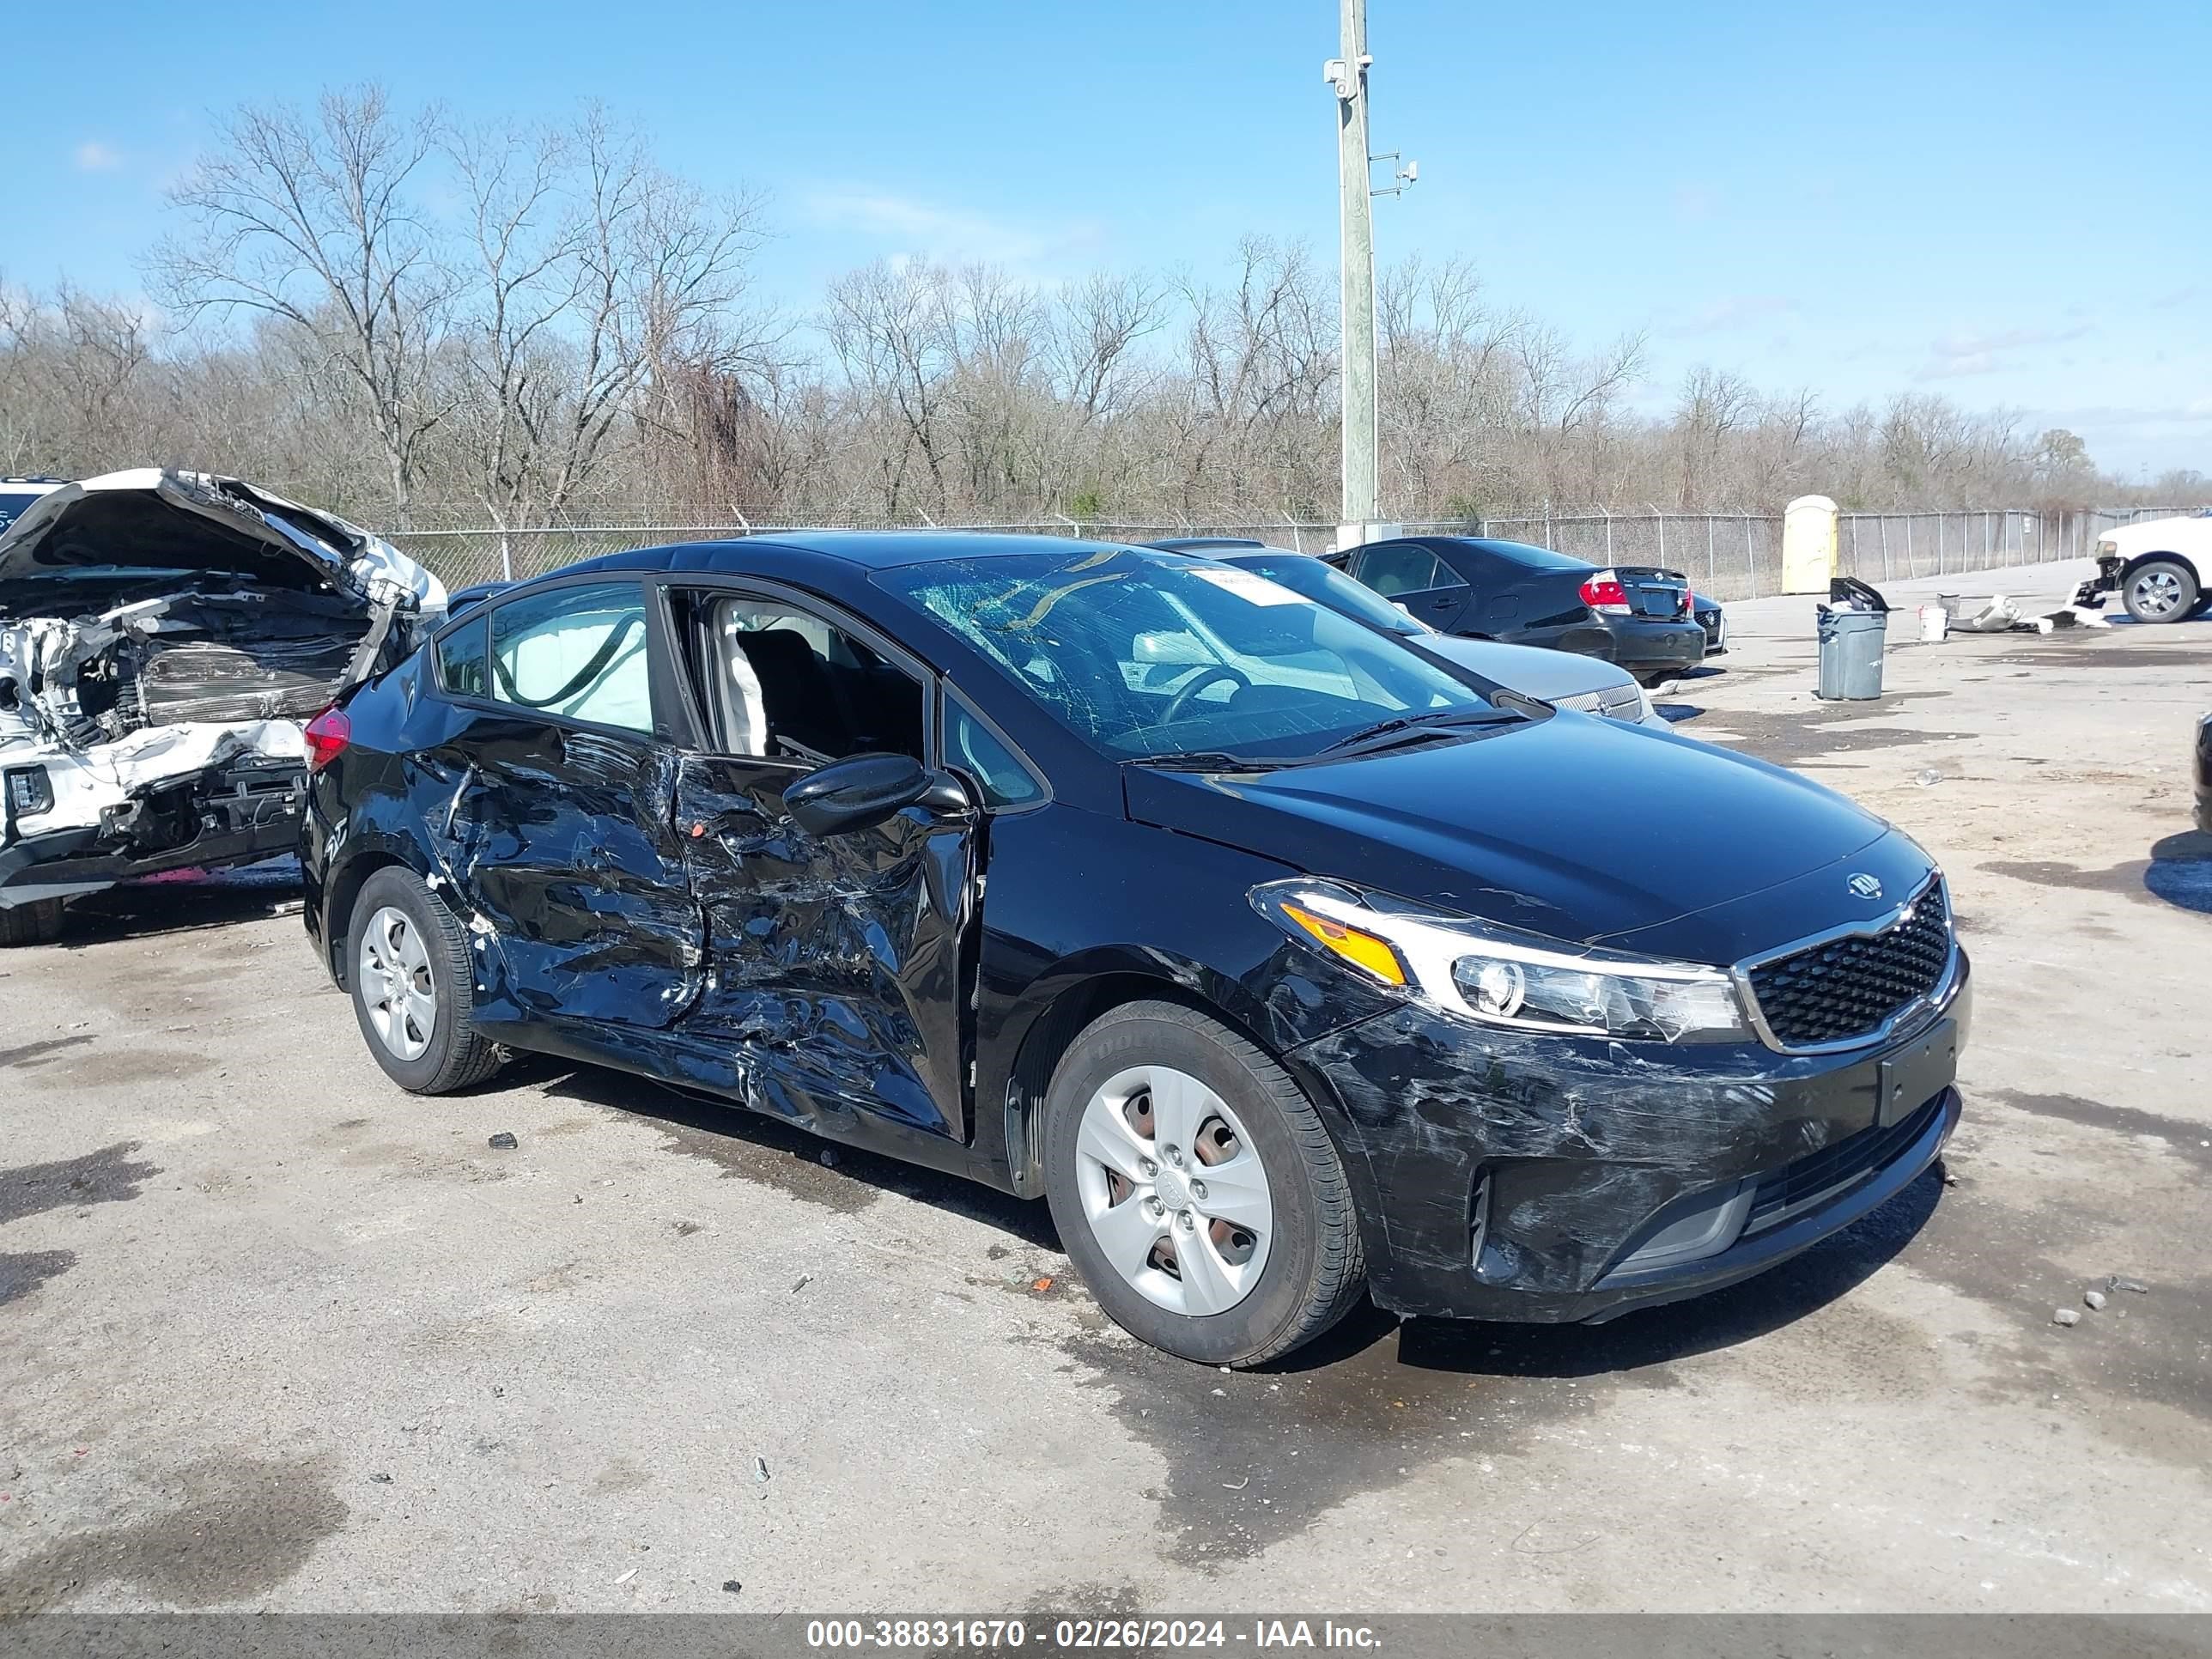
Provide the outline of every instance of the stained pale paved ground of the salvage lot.
[[111,894],[0,956],[0,1613],[2212,1610],[2212,622],[1900,617],[1823,706],[1809,602],[1730,613],[1666,710],[1951,874],[1955,1183],[1699,1303],[1232,1376],[1042,1206],[604,1071],[398,1093],[283,869]]

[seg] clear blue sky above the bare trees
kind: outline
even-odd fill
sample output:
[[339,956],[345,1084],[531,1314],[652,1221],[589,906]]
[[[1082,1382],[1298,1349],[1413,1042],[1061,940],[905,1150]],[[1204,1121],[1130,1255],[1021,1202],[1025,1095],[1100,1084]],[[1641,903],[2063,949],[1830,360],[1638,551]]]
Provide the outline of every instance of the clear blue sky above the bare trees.
[[[13,283],[135,290],[210,111],[356,80],[476,117],[606,100],[672,168],[770,192],[794,305],[900,252],[1206,274],[1254,230],[1334,265],[1327,0],[97,11],[97,46],[71,7],[4,31]],[[1378,204],[1383,259],[1471,257],[1586,343],[1650,330],[1646,400],[1712,363],[2212,471],[2212,7],[1371,0],[1369,35],[1374,144],[1422,170]]]

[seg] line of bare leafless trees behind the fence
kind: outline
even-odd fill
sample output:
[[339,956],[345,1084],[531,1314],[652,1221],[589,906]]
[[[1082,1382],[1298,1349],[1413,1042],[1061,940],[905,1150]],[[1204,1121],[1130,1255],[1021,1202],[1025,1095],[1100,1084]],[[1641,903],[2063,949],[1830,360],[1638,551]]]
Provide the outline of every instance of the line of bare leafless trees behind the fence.
[[[173,188],[155,307],[0,281],[0,471],[241,473],[385,529],[1336,515],[1336,276],[1248,237],[1221,276],[876,261],[759,296],[761,195],[602,108],[469,124],[380,88],[243,106]],[[1646,338],[1577,345],[1467,259],[1378,294],[1385,507],[1772,511],[2201,500],[2079,438],[1898,394],[1827,409]]]

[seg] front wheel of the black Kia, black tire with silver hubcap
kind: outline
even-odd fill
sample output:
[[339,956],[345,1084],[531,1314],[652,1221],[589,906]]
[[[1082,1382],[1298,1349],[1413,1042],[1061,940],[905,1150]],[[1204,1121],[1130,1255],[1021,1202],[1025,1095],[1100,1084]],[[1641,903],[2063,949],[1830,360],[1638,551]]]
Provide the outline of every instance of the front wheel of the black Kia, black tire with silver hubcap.
[[[1177,1155],[1175,1144],[1192,1150]],[[1126,1177],[1110,1172],[1108,1159],[1130,1148],[1159,1155],[1150,1175],[1146,1159]],[[1186,1360],[1259,1365],[1290,1354],[1367,1290],[1352,1188],[1312,1102],[1241,1035],[1175,1002],[1113,1009],[1062,1055],[1046,1091],[1044,1183],[1060,1241],[1099,1307]],[[1128,1192],[1117,1197],[1119,1188]],[[1104,1239],[1141,1265],[1117,1265]],[[1190,1248],[1210,1254],[1203,1263],[1179,1254]]]

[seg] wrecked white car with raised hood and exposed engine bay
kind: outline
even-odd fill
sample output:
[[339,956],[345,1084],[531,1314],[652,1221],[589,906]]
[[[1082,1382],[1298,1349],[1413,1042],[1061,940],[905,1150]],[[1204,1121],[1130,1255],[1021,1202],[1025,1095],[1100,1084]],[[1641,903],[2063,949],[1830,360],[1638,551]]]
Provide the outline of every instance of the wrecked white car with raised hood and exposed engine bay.
[[0,945],[133,876],[292,852],[305,721],[442,617],[389,542],[237,478],[27,502],[0,533]]

